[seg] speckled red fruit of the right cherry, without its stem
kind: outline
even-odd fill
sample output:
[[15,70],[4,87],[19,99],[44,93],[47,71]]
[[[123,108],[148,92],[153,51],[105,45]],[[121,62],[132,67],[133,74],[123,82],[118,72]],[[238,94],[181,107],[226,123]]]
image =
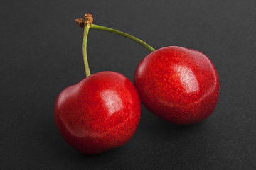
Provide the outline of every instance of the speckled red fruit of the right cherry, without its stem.
[[144,57],[134,73],[134,84],[149,111],[177,125],[208,118],[220,88],[216,69],[206,55],[176,46]]

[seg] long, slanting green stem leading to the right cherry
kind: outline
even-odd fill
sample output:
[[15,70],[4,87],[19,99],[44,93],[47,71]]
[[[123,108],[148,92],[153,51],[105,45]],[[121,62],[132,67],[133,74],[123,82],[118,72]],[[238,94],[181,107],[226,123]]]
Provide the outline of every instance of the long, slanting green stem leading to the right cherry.
[[[88,25],[89,25],[89,24],[88,24]],[[150,45],[148,45],[146,42],[144,42],[144,41],[140,40],[139,38],[136,38],[136,37],[134,37],[134,36],[132,36],[132,35],[129,35],[129,34],[127,34],[127,33],[124,33],[124,32],[122,32],[122,31],[115,30],[115,29],[112,29],[112,28],[107,28],[107,27],[105,27],[105,26],[97,26],[97,25],[95,25],[95,24],[91,24],[91,25],[90,25],[90,28],[92,28],[92,29],[97,29],[97,30],[105,30],[105,31],[108,31],[108,32],[110,32],[110,33],[116,33],[116,34],[122,35],[122,36],[124,36],[124,37],[126,37],[126,38],[129,38],[129,39],[131,39],[131,40],[134,40],[135,42],[138,42],[140,45],[143,45],[143,46],[146,47],[146,49],[148,49],[150,52],[154,52],[154,51],[155,51],[154,48],[151,47]]]

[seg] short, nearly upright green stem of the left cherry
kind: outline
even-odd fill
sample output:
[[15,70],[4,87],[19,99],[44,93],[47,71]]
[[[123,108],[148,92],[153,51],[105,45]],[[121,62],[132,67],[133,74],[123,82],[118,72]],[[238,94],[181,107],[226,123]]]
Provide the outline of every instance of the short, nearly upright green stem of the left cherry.
[[86,50],[87,37],[88,37],[89,29],[90,29],[90,24],[87,24],[85,26],[84,37],[83,37],[83,41],[82,41],[82,55],[83,55],[83,60],[84,60],[84,63],[85,63],[86,77],[90,76],[90,69],[89,69],[89,64],[88,64],[88,60],[87,60],[87,50]]

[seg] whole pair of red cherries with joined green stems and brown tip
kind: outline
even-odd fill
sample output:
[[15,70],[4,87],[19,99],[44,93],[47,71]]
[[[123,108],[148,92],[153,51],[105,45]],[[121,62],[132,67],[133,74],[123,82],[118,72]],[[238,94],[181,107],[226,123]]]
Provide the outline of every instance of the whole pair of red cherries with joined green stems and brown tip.
[[[76,20],[85,28],[87,77],[61,91],[54,106],[55,123],[70,146],[85,154],[101,154],[124,145],[139,125],[140,101],[154,115],[177,125],[199,123],[213,113],[219,79],[206,55],[176,46],[154,50],[132,35],[92,24],[92,19],[85,14]],[[89,28],[118,33],[151,51],[137,66],[135,86],[117,72],[90,75],[86,55]]]

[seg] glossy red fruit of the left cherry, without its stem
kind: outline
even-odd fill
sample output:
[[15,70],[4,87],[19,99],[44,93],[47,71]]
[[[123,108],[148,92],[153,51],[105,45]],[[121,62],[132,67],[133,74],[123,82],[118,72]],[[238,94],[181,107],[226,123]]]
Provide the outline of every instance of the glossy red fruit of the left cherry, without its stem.
[[117,72],[98,72],[58,95],[55,123],[69,145],[85,154],[101,154],[124,145],[141,117],[137,91]]

